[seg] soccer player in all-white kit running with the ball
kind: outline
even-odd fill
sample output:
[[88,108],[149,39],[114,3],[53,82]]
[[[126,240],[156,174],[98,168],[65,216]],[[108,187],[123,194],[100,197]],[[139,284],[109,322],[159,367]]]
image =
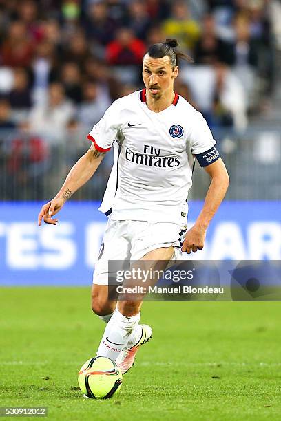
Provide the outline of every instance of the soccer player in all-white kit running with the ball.
[[[152,336],[140,325],[141,300],[108,299],[108,261],[169,263],[175,252],[202,250],[209,222],[229,185],[225,165],[202,114],[174,92],[177,41],[149,47],[143,58],[145,89],[119,98],[88,135],[90,149],[70,170],[61,190],[41,208],[41,220],[52,217],[94,174],[110,148],[114,166],[100,210],[107,215],[101,252],[92,286],[92,310],[107,323],[98,356],[111,358],[123,373],[134,363],[139,347]],[[205,203],[195,225],[187,230],[187,192],[195,159],[211,177]],[[183,244],[179,234],[185,233]]]

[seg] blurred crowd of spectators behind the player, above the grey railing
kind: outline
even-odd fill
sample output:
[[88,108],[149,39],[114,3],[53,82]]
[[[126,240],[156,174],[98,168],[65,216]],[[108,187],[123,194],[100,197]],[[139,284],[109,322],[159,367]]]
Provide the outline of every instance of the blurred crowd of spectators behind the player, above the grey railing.
[[143,55],[166,37],[194,58],[178,94],[211,128],[243,130],[273,92],[280,22],[279,0],[0,0],[0,138],[17,130],[6,171],[21,177],[24,155],[40,175],[50,149],[77,149],[141,89]]

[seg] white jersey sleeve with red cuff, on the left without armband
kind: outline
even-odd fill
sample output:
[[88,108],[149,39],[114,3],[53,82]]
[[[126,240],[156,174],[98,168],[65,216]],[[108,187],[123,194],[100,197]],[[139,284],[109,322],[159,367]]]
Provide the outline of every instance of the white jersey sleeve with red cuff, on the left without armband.
[[121,127],[119,114],[118,106],[114,102],[88,134],[87,139],[94,142],[97,151],[107,152],[112,147],[118,129]]

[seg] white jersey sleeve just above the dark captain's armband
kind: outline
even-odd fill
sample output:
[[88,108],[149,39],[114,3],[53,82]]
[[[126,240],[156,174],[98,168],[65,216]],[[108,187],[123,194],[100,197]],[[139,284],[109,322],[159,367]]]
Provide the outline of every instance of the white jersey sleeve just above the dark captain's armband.
[[216,144],[205,118],[199,112],[196,113],[196,118],[193,120],[189,141],[191,152],[194,155],[209,151]]

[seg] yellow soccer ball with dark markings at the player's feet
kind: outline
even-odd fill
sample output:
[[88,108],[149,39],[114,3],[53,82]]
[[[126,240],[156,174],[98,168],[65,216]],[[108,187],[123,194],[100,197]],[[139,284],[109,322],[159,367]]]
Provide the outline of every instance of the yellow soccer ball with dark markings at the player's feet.
[[98,356],[82,365],[78,383],[87,398],[108,399],[121,389],[122,374],[114,361]]

